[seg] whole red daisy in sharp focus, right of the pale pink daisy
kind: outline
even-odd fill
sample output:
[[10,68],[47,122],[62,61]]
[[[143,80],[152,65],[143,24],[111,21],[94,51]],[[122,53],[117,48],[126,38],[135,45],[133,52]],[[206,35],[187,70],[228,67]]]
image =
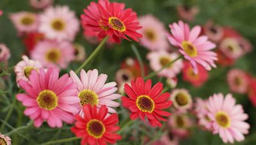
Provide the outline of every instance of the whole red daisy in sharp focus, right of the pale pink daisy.
[[142,78],[137,78],[136,82],[131,81],[131,86],[125,84],[124,91],[129,96],[122,97],[123,106],[128,108],[132,114],[131,120],[135,120],[140,116],[141,120],[145,121],[145,117],[152,127],[161,127],[159,120],[167,121],[163,116],[170,116],[171,113],[163,111],[172,106],[170,93],[163,91],[163,84],[157,83],[151,88],[151,79],[145,83]]

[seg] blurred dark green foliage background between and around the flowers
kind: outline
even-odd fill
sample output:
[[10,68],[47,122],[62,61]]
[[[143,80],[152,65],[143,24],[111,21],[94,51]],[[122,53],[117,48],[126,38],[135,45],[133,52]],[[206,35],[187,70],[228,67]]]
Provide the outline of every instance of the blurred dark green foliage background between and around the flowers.
[[[239,31],[244,37],[250,40],[253,46],[256,46],[256,1],[255,0],[118,0],[126,4],[126,8],[132,8],[138,13],[138,16],[152,14],[159,18],[166,25],[172,22],[177,22],[179,17],[177,15],[176,7],[180,4],[196,5],[200,8],[200,12],[196,15],[195,22],[189,25],[204,25],[207,20],[213,20],[216,24],[223,26],[230,26]],[[76,11],[77,17],[83,13],[83,9],[90,3],[88,0],[55,0],[54,4],[68,5],[71,10]],[[22,53],[25,51],[25,47],[22,43],[22,39],[17,36],[17,31],[13,27],[12,22],[8,18],[9,13],[19,11],[33,11],[40,13],[40,10],[34,10],[29,6],[27,0],[0,0],[0,10],[4,11],[4,15],[0,17],[0,43],[5,43],[12,52],[10,59],[10,66],[15,65],[20,61]],[[94,50],[96,45],[91,45],[84,39],[82,28],[77,35],[74,42],[80,43],[86,48],[86,53],[90,54]],[[169,30],[169,29],[168,29]],[[127,57],[134,57],[131,44],[135,44],[143,57],[143,60],[148,64],[145,56],[147,50],[141,47],[135,42],[123,41],[120,45],[115,45],[113,48],[104,49],[100,52],[97,58],[86,69],[97,68],[99,72],[108,74],[108,81],[115,81],[115,72],[119,69],[120,63]],[[250,72],[253,76],[256,76],[256,51],[244,55],[241,59],[237,60],[236,64],[232,67],[218,67],[210,72],[209,81],[205,83],[201,88],[194,88],[189,83],[181,82],[179,75],[178,88],[187,88],[193,97],[207,98],[212,93],[228,93],[230,90],[227,85],[227,71],[230,68],[241,68],[244,71]],[[79,66],[77,63],[72,63],[67,70],[76,69]],[[13,92],[17,91],[15,85],[15,75],[12,76],[12,81],[8,81],[8,97],[10,102],[14,99]],[[158,81],[158,78],[154,78],[154,81]],[[163,83],[165,81],[163,80]],[[237,103],[241,103],[244,106],[244,110],[249,114],[248,122],[252,126],[250,134],[256,132],[256,114],[255,107],[252,106],[246,95],[233,94],[237,99]],[[1,102],[1,98],[0,98]],[[23,108],[20,103],[15,108]],[[10,109],[8,103],[0,103],[0,119],[6,116],[6,112]],[[126,116],[123,116],[126,117]],[[17,120],[22,120],[18,121]],[[12,127],[19,127],[26,125],[29,121],[28,117],[23,116],[22,110],[16,109],[8,121]],[[2,122],[0,122],[1,124]],[[132,129],[129,128],[129,129]],[[12,129],[6,127],[6,130],[2,133],[10,132]],[[157,130],[157,129],[156,129]],[[154,132],[154,130],[152,130]],[[127,135],[131,135],[132,132],[127,130]],[[126,134],[125,134],[126,135]],[[145,132],[137,132],[136,135],[145,135]],[[13,139],[14,144],[39,144],[50,140],[64,139],[72,137],[69,127],[60,129],[52,129],[47,127],[46,124],[42,128],[28,127],[26,130],[22,130],[20,134],[12,134],[10,137]],[[125,137],[124,137],[125,140]],[[135,137],[134,141],[125,142],[119,141],[118,144],[140,144],[140,137]],[[127,141],[127,139],[126,139]],[[79,141],[76,142],[79,144]],[[256,142],[254,142],[256,144]],[[71,144],[71,143],[66,143]],[[209,132],[202,131],[198,128],[191,130],[191,137],[189,139],[182,139],[181,144],[222,144],[218,135],[212,135]],[[242,143],[245,144],[245,143]],[[248,144],[253,144],[250,142]]]

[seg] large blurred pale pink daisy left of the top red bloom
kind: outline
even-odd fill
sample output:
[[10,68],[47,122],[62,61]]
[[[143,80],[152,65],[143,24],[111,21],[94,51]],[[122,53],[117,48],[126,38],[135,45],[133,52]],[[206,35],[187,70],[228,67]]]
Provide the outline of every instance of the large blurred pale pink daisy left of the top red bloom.
[[79,31],[79,20],[68,6],[50,7],[40,15],[39,31],[49,39],[72,41]]

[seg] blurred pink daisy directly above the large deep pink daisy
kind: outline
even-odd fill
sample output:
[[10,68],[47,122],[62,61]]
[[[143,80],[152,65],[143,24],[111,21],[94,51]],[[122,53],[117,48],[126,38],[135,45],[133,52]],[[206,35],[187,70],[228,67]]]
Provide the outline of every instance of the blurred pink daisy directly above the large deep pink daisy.
[[74,47],[68,41],[40,41],[31,52],[33,60],[39,60],[44,67],[67,68],[74,60]]

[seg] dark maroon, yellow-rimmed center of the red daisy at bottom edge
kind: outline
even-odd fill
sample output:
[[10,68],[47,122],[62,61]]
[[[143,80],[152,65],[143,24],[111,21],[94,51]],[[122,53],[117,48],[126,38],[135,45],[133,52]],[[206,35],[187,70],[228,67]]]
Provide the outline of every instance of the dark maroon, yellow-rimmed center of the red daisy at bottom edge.
[[90,120],[86,125],[86,130],[89,135],[95,139],[99,139],[105,133],[105,125],[100,120]]

